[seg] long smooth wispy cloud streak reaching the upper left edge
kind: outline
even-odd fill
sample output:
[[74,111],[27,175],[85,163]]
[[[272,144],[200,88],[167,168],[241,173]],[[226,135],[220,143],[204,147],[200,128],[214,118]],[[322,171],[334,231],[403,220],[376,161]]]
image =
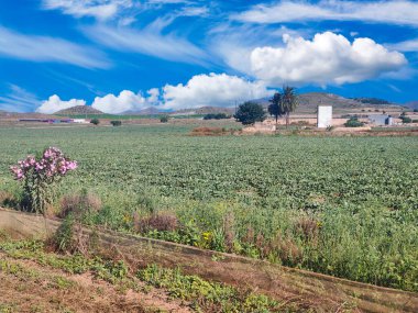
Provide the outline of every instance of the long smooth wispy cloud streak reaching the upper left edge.
[[0,26],[0,55],[32,62],[56,62],[86,68],[108,67],[96,49],[61,38],[24,35]]

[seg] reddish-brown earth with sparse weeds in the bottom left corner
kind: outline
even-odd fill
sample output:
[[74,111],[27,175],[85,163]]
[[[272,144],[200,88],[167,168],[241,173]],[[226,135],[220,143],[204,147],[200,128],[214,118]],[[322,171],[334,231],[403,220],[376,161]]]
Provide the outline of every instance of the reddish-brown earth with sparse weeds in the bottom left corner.
[[2,253],[0,261],[20,267],[13,273],[0,268],[0,312],[190,312],[160,289],[147,287],[146,293],[124,290],[90,273],[68,275]]

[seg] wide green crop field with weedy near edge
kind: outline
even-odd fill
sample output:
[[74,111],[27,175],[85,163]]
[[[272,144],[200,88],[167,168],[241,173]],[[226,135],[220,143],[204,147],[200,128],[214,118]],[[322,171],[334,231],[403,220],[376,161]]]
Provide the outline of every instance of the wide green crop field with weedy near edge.
[[77,170],[54,208],[86,189],[87,224],[418,291],[417,137],[190,136],[193,125],[0,128],[9,167],[57,146]]

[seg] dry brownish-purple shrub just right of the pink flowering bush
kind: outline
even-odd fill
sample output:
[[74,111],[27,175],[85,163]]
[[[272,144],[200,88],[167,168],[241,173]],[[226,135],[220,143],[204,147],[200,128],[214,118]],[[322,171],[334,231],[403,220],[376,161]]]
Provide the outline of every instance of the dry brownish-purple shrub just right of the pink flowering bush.
[[64,219],[70,213],[81,215],[87,212],[99,212],[101,200],[98,195],[81,190],[81,192],[64,195],[61,200],[58,217]]

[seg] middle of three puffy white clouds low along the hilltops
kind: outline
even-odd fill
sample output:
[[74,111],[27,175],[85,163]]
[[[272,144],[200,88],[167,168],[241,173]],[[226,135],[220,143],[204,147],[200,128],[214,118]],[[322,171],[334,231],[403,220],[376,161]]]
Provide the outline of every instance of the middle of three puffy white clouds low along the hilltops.
[[157,88],[150,89],[147,93],[147,98],[143,97],[141,92],[134,93],[130,90],[123,90],[119,96],[109,93],[105,97],[96,97],[91,107],[110,114],[140,111],[156,104],[158,101],[160,91]]

